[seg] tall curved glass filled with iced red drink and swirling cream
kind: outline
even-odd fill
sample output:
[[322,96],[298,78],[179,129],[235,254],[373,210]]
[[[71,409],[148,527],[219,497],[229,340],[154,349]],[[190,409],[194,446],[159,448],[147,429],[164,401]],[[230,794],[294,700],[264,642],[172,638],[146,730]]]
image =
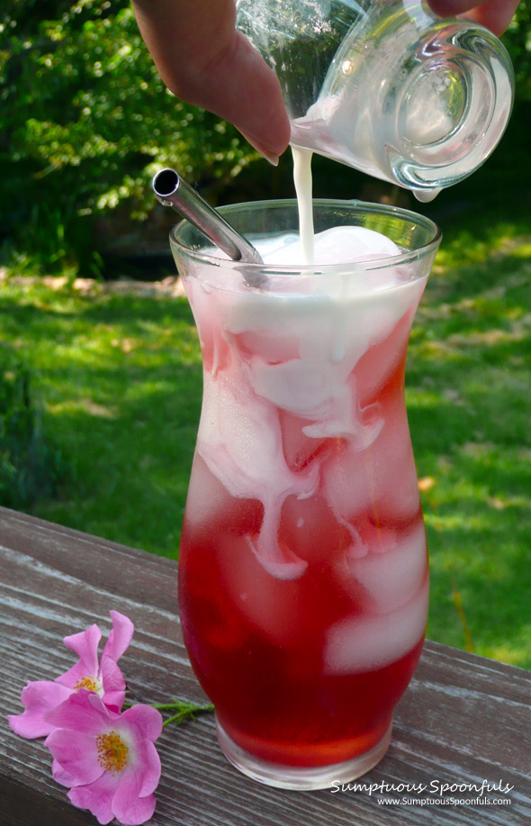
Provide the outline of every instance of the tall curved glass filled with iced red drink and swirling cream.
[[[292,201],[222,213],[258,247],[298,227]],[[247,265],[215,256],[187,222],[171,233],[204,369],[179,558],[184,643],[226,756],[293,789],[383,757],[428,615],[404,364],[439,233],[359,202],[314,202],[314,220],[382,232],[403,252]]]

